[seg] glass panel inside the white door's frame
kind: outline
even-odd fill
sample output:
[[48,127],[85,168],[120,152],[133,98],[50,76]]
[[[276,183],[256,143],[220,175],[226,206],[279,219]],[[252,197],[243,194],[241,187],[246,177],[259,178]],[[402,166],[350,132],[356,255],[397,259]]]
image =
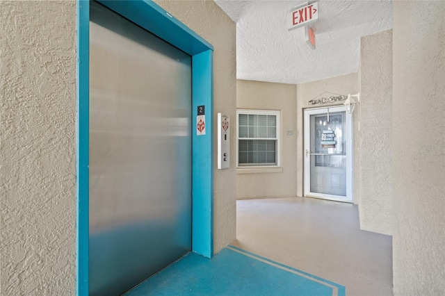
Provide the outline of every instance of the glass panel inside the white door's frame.
[[346,196],[346,113],[311,115],[311,192]]

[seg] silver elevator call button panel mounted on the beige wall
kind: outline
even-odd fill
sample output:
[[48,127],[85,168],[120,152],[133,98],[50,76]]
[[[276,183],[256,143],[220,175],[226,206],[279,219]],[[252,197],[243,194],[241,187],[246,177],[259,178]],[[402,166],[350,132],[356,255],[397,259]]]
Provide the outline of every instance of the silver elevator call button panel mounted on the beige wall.
[[218,113],[218,170],[230,165],[230,129],[229,116]]

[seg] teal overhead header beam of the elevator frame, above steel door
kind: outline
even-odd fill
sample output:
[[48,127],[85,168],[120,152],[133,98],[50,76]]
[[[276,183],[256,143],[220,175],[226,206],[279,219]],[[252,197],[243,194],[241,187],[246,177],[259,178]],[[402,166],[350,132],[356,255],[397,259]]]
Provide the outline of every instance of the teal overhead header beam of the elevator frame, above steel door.
[[213,46],[209,42],[153,1],[97,1],[191,56],[208,49],[213,50]]

